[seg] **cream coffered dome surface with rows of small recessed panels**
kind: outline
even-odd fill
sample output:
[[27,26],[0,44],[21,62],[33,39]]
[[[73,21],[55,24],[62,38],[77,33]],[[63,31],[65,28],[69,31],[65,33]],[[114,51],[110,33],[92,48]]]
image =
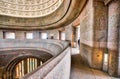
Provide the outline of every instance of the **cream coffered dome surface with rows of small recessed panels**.
[[63,0],[0,0],[0,14],[15,17],[42,17],[53,13]]

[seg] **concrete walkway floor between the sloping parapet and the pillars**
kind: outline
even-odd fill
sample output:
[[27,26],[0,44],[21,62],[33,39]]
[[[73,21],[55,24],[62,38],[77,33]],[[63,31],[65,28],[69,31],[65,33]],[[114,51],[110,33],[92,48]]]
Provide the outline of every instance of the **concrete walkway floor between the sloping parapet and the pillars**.
[[72,69],[70,79],[120,79],[109,76],[99,70],[89,68],[79,55],[72,55]]

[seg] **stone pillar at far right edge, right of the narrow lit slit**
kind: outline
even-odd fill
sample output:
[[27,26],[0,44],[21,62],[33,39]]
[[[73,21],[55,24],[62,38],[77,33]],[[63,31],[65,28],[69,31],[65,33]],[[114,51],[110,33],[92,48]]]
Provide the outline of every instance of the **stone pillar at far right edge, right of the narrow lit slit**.
[[[108,18],[108,52],[109,69],[108,73],[118,76],[120,72],[119,57],[119,28],[120,28],[120,0],[113,0],[109,5]],[[120,76],[120,73],[119,73]]]

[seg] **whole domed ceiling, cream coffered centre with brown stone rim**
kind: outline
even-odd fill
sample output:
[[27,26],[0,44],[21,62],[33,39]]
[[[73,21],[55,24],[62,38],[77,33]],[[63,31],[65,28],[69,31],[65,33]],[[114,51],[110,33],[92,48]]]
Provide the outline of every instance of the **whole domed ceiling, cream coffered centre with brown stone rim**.
[[0,29],[44,30],[66,26],[87,0],[0,0]]

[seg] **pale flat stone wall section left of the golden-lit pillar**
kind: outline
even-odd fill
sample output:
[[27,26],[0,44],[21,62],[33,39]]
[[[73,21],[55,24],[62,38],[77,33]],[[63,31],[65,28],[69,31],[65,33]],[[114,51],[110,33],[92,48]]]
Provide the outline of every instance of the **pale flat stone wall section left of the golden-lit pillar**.
[[92,66],[93,2],[89,0],[80,14],[80,54]]

